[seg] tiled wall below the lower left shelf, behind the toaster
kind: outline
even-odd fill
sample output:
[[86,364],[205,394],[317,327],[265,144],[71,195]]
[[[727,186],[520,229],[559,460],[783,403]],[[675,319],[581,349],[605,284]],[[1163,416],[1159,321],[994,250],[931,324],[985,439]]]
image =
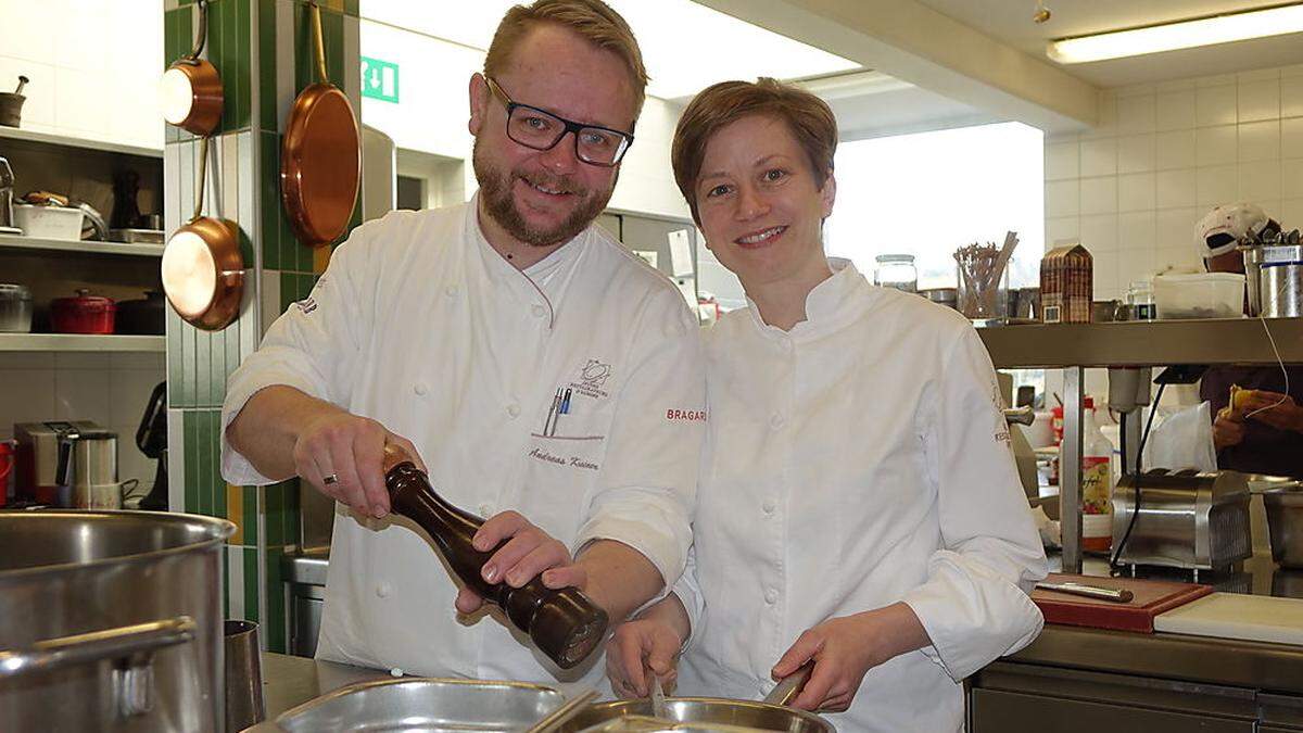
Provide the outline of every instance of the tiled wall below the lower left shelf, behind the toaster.
[[0,353],[0,440],[14,423],[94,420],[117,433],[119,479],[149,488],[154,462],[136,447],[136,428],[163,380],[162,353]]

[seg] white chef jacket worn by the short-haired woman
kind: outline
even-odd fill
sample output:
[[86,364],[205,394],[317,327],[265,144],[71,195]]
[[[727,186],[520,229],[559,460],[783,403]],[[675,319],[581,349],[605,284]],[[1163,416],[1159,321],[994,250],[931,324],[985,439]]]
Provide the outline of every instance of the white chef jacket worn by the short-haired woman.
[[960,730],[959,681],[1040,633],[1045,553],[972,326],[831,263],[791,331],[751,304],[706,337],[679,690],[758,699],[803,631],[904,601],[934,646],[870,669],[829,720]]

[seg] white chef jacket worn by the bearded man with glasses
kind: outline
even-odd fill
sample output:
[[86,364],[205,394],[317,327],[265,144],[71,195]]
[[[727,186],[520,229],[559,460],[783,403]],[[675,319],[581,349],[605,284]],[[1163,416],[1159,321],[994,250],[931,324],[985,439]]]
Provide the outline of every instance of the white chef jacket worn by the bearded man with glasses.
[[[521,273],[485,240],[474,201],[369,222],[232,374],[223,426],[268,385],[409,438],[457,506],[515,509],[572,552],[619,540],[671,584],[683,570],[704,433],[698,327],[668,279],[597,227]],[[222,470],[270,483],[225,441]],[[450,571],[410,527],[336,503],[318,657],[601,681],[595,659],[562,673],[500,616],[459,620]]]

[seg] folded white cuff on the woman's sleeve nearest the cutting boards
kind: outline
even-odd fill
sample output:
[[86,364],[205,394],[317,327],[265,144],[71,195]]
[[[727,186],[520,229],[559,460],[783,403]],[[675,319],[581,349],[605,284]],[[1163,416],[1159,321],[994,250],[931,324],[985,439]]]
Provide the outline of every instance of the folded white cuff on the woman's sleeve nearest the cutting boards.
[[952,587],[955,582],[934,576],[902,600],[932,639],[932,646],[921,650],[924,656],[959,682],[997,657],[1029,644],[1041,633],[1045,618],[1014,583],[999,578],[960,580],[964,586],[985,586],[973,592]]

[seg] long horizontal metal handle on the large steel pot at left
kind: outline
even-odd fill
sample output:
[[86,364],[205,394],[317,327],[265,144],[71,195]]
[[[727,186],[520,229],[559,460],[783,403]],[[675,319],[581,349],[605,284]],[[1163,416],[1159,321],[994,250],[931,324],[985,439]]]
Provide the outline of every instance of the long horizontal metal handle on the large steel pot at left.
[[189,616],[149,621],[117,629],[43,639],[27,650],[0,651],[0,680],[29,672],[50,672],[102,659],[149,653],[194,639]]

